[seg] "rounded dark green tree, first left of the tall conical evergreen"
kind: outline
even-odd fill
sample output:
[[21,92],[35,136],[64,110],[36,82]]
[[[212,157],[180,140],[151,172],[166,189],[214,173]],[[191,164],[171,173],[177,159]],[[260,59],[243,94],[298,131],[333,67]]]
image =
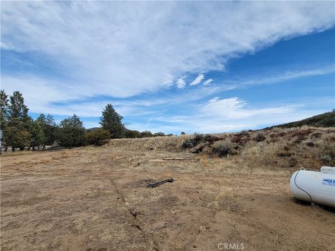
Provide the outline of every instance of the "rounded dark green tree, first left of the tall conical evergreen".
[[82,121],[73,114],[59,123],[59,130],[57,133],[57,141],[60,146],[73,147],[84,145],[85,129],[82,126]]

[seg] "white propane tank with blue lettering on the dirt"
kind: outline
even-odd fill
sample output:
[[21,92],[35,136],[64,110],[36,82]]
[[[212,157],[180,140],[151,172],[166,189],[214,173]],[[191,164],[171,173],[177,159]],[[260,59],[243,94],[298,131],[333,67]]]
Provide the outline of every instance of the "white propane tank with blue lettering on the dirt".
[[335,167],[321,167],[320,170],[300,169],[292,174],[292,195],[302,201],[335,208]]

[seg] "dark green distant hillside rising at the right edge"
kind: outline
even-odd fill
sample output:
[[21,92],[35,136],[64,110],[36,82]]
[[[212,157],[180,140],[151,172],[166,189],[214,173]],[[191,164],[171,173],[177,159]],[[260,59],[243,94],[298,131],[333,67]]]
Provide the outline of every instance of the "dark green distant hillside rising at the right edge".
[[[326,112],[324,114],[319,114],[312,116],[311,118],[303,119],[301,121],[294,121],[290,123],[284,123],[282,125],[276,126],[279,128],[293,128],[299,126],[315,126],[315,127],[335,127],[335,111]],[[274,128],[275,126],[271,126]]]

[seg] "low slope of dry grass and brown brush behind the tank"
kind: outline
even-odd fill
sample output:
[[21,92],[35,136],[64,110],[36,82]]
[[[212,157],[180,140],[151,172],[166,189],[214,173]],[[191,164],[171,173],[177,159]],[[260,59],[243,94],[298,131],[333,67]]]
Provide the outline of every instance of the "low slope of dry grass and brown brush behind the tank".
[[[187,151],[196,159],[224,158],[227,167],[320,169],[335,166],[335,128],[272,128],[218,135],[114,139],[105,147],[121,151]],[[221,163],[221,162],[220,162]]]

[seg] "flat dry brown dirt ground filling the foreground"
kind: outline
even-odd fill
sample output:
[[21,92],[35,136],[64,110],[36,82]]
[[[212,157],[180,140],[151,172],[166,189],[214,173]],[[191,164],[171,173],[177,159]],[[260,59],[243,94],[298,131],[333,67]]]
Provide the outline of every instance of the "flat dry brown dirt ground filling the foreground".
[[1,250],[335,250],[334,210],[295,201],[294,170],[157,161],[175,157],[194,158],[107,147],[3,155]]

